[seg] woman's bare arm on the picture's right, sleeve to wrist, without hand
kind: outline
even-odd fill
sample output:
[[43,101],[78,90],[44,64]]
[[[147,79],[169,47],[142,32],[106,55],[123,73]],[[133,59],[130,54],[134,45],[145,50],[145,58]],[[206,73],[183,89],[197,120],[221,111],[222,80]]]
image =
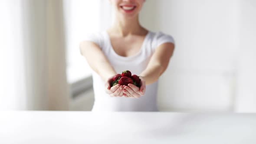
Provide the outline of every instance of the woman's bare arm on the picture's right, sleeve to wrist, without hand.
[[173,43],[164,43],[155,49],[155,52],[151,57],[147,68],[140,74],[140,76],[145,80],[146,85],[156,82],[164,73],[164,71],[167,69],[173,52]]

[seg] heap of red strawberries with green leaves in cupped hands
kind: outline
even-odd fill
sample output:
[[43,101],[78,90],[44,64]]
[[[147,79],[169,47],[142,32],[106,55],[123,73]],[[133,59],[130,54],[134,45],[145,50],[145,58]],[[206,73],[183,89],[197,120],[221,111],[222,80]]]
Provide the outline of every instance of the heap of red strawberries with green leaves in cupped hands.
[[138,77],[138,75],[131,75],[131,72],[126,70],[126,71],[123,71],[122,74],[116,74],[113,77],[112,86],[117,84],[126,85],[126,86],[128,86],[128,84],[133,84],[140,88],[141,87],[140,83],[141,83],[141,79]]

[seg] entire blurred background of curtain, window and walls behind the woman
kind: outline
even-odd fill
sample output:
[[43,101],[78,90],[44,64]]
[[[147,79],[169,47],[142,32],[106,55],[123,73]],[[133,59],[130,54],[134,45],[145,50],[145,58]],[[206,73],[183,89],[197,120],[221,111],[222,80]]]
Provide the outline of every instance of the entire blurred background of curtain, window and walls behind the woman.
[[[90,111],[79,42],[112,20],[108,0],[0,0],[0,110]],[[146,0],[140,21],[176,42],[160,111],[256,112],[255,0]]]

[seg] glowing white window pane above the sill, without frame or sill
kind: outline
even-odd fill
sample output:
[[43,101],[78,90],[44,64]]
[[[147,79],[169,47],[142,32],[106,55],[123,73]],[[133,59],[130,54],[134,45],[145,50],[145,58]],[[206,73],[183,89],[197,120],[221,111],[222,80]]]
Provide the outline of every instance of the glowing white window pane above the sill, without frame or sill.
[[79,43],[86,34],[100,30],[100,0],[64,0],[67,79],[70,84],[91,75]]

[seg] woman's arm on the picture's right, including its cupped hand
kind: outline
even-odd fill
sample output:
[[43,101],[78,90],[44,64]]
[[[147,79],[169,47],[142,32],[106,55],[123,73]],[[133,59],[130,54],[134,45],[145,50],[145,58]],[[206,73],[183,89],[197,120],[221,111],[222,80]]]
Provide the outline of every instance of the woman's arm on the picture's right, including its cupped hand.
[[141,88],[129,84],[125,86],[124,93],[131,97],[139,98],[144,95],[146,85],[156,82],[167,69],[171,56],[174,52],[174,43],[164,43],[155,49],[147,68],[141,72]]

